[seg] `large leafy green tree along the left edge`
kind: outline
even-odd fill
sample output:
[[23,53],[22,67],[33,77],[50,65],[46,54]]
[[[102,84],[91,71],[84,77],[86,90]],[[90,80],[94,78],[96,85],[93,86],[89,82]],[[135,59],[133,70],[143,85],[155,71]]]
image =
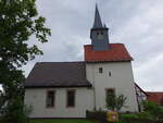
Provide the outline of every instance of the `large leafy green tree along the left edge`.
[[0,0],[0,113],[3,123],[25,123],[27,110],[23,102],[24,72],[28,61],[42,51],[28,44],[30,36],[47,42],[50,29],[46,19],[38,15],[36,0]]

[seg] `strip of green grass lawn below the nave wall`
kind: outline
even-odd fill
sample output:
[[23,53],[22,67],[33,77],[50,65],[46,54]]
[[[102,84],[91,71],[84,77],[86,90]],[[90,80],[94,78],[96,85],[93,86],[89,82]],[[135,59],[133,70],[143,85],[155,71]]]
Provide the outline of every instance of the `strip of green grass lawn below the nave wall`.
[[78,119],[54,119],[54,120],[32,120],[30,123],[97,123],[89,120]]

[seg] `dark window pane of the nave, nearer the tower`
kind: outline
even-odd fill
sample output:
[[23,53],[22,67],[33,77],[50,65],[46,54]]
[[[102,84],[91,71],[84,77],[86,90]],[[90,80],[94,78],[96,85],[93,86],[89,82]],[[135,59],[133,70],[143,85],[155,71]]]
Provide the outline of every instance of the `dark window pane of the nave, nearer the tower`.
[[75,107],[75,90],[67,90],[66,107]]

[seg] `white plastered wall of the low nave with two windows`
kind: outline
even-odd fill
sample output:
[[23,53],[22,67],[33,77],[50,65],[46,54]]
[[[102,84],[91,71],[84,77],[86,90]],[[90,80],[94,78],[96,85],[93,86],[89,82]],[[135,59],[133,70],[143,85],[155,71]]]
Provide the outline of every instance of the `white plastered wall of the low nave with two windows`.
[[[66,90],[75,89],[75,108],[66,108]],[[54,108],[46,107],[47,90],[55,90]],[[30,118],[85,118],[92,110],[91,88],[36,88],[26,89],[25,103],[33,107]]]

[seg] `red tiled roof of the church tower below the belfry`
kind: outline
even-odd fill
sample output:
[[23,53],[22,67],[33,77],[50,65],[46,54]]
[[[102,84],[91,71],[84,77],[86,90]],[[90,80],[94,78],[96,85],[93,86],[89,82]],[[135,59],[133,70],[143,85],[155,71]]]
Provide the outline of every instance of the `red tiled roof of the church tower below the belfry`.
[[95,51],[92,45],[85,46],[86,62],[131,61],[133,58],[123,44],[110,44],[109,50]]

